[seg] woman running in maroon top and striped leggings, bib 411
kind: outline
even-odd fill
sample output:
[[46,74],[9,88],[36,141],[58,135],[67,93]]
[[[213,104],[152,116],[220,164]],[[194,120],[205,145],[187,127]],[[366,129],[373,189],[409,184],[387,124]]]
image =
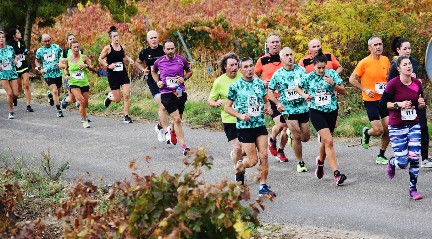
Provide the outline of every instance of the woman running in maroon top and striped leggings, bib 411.
[[419,154],[422,132],[417,116],[417,108],[423,109],[426,104],[422,97],[422,83],[412,77],[413,66],[410,58],[400,56],[396,62],[400,76],[390,80],[379,101],[379,107],[390,110],[388,129],[394,156],[390,157],[387,175],[393,178],[395,167],[404,169],[410,163],[410,198],[422,199],[417,192],[419,175]]

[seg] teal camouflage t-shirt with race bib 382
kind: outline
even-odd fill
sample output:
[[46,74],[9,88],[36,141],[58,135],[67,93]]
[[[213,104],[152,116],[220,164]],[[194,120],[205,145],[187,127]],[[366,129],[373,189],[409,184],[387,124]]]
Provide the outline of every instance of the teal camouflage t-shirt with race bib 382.
[[313,98],[308,104],[309,108],[324,112],[332,112],[337,108],[337,101],[336,96],[334,95],[334,87],[323,80],[325,75],[330,75],[331,79],[333,79],[337,85],[343,83],[339,74],[337,74],[335,70],[326,69],[322,76],[317,75],[315,71],[309,73],[299,82],[299,86],[307,89],[308,93],[310,93]]

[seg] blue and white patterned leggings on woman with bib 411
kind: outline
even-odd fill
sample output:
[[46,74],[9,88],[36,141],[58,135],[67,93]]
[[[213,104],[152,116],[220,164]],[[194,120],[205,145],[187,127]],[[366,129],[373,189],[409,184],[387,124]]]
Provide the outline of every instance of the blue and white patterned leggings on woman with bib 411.
[[421,149],[422,132],[420,124],[406,126],[388,126],[391,147],[394,151],[392,160],[388,163],[404,169],[410,162],[410,189],[416,188],[419,175],[419,154]]

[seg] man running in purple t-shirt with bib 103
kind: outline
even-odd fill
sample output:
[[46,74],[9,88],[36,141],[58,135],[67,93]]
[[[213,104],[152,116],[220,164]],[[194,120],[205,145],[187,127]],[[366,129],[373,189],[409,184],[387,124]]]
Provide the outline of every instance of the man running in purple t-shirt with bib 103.
[[[184,57],[175,53],[174,41],[171,39],[166,39],[163,42],[163,50],[165,56],[156,60],[152,69],[152,77],[160,88],[161,102],[166,112],[172,117],[172,125],[168,126],[167,132],[165,132],[165,140],[167,144],[172,143],[175,145],[178,137],[178,140],[183,145],[183,154],[186,156],[187,151],[190,149],[187,148],[184,142],[181,117],[187,99],[184,81],[191,78],[192,69]],[[158,71],[160,71],[160,79]],[[181,94],[176,92],[178,87],[181,88]]]

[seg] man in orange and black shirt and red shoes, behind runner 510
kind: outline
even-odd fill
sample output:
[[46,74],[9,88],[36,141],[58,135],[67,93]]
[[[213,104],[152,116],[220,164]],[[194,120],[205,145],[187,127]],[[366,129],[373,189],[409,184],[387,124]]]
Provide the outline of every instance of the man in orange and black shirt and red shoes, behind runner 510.
[[[265,54],[264,56],[260,57],[260,59],[258,59],[257,65],[255,66],[255,74],[254,74],[254,77],[259,79],[258,74],[261,73],[262,80],[266,87],[268,87],[273,73],[277,69],[280,69],[283,66],[283,63],[280,61],[280,57],[279,57],[279,53],[280,53],[279,35],[274,33],[270,34],[267,38],[267,47],[269,48],[269,53]],[[279,91],[277,89],[274,94],[276,98],[280,97]],[[275,125],[271,129],[271,135],[268,138],[269,151],[270,154],[273,154],[274,156],[278,157],[280,162],[288,162],[288,158],[285,156],[285,153],[283,152],[286,142],[288,142],[288,136],[286,135],[286,129],[288,128],[286,127],[283,118],[280,117],[280,112],[277,110],[276,104],[270,101],[270,106],[273,110],[273,114],[271,115],[271,117]],[[279,148],[277,148],[276,139],[279,133],[281,133],[280,144],[279,144]]]

